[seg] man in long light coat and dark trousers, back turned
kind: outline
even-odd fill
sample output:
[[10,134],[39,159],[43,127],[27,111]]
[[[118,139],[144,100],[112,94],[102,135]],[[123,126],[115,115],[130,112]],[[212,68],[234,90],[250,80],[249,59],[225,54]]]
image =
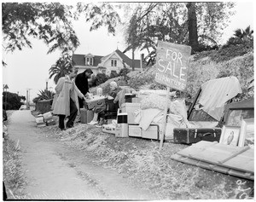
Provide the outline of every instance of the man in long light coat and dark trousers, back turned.
[[59,78],[55,87],[56,95],[53,101],[53,113],[59,115],[59,128],[65,129],[64,120],[67,117],[67,128],[73,127],[73,122],[79,113],[79,100],[78,96],[85,100],[84,95],[80,92],[73,78],[76,77],[78,70],[73,68],[65,77]]

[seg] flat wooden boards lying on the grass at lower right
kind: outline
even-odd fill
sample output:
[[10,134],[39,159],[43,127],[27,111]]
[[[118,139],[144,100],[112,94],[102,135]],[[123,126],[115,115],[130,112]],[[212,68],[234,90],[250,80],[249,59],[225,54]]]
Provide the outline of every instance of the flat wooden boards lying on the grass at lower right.
[[[218,142],[200,141],[177,153],[186,159],[186,163],[220,171],[230,175],[246,175],[252,179],[254,175],[254,150],[250,147],[236,147]],[[173,159],[177,159],[177,155]],[[189,163],[190,162],[190,163]],[[192,163],[191,163],[192,162]],[[184,162],[185,163],[185,162]],[[236,174],[240,172],[240,174]],[[247,177],[247,178],[248,178]]]

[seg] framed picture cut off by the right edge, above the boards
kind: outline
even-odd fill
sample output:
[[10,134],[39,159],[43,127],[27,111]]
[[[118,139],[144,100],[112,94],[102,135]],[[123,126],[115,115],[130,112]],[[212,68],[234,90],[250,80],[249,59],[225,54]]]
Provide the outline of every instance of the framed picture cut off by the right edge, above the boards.
[[254,118],[241,120],[241,135],[238,146],[254,147]]

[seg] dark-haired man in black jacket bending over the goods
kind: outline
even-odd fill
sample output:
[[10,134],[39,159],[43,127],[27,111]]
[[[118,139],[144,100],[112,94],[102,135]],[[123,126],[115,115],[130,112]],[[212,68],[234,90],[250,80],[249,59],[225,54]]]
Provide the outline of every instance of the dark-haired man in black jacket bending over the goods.
[[[79,73],[75,78],[75,84],[81,91],[83,95],[86,95],[89,92],[88,86],[88,78],[90,78],[93,72],[90,68],[86,69],[84,72]],[[79,108],[84,108],[84,102],[82,99],[79,98]]]

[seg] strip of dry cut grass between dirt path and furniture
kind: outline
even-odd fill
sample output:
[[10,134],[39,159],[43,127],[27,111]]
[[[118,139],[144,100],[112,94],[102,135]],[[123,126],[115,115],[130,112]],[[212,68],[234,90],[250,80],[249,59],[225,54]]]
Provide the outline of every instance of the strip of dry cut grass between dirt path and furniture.
[[87,124],[76,124],[64,132],[56,126],[42,129],[46,131],[68,146],[84,150],[96,164],[117,170],[134,187],[148,190],[159,199],[236,199],[239,193],[239,178],[170,159],[173,153],[188,147],[185,145],[165,142],[159,150],[159,141],[117,138]]

